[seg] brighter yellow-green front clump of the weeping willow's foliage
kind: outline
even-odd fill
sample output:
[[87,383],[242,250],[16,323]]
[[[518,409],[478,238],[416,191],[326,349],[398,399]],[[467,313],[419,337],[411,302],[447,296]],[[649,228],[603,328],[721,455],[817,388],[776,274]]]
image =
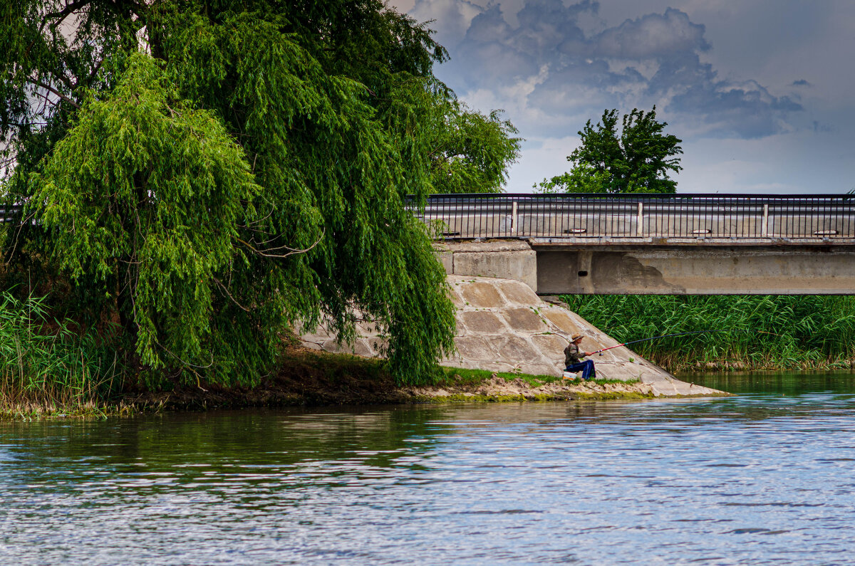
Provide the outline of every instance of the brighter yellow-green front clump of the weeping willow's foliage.
[[142,363],[210,363],[216,281],[240,262],[238,226],[261,192],[213,113],[180,101],[155,60],[135,54],[114,89],[82,104],[30,186],[56,263],[97,289],[93,302],[119,301]]

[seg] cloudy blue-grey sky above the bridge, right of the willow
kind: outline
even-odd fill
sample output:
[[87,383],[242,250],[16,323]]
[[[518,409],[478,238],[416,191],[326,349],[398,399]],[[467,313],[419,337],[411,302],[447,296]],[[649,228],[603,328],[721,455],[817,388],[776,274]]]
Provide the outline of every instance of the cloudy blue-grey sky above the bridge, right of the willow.
[[678,192],[855,188],[851,0],[389,0],[432,21],[434,68],[525,139],[507,192],[569,170],[604,109],[652,109],[682,139]]

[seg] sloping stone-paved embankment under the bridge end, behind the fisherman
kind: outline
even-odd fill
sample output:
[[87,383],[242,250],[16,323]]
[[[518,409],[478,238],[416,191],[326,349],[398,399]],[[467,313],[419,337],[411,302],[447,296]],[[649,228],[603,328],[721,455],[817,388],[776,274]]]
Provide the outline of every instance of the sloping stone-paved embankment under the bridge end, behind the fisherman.
[[[563,369],[563,349],[571,335],[581,333],[581,349],[597,351],[617,345],[616,340],[600,332],[581,316],[564,309],[559,304],[541,300],[531,287],[519,280],[493,279],[467,275],[449,275],[451,300],[457,306],[457,353],[442,360],[444,366],[485,369],[492,372],[518,372],[534,375],[560,376]],[[320,327],[316,333],[305,334],[303,344],[322,351],[353,353],[374,357],[380,350],[382,338],[370,322],[360,324],[358,338],[351,345],[340,345],[331,333]],[[675,377],[648,362],[625,346],[593,357],[600,379],[622,380],[626,386],[615,384],[616,389],[652,395],[654,397],[716,395],[707,387],[695,386]],[[561,392],[594,392],[594,384],[547,383],[540,388],[526,386],[522,380],[493,380],[484,384],[484,392],[472,395],[539,398],[559,396]],[[558,388],[558,389],[557,389]],[[593,388],[593,389],[592,389]],[[553,391],[554,390],[554,391]],[[431,396],[429,388],[421,395]],[[451,393],[435,391],[433,396],[446,397]]]

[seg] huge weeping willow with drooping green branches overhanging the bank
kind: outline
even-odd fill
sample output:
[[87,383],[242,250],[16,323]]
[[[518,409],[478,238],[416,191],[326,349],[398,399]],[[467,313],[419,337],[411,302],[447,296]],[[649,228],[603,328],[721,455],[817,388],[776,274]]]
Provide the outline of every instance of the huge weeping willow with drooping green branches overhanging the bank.
[[404,196],[498,190],[519,140],[435,79],[426,27],[379,0],[0,5],[6,187],[26,203],[7,285],[62,283],[148,375],[250,385],[287,328],[327,317],[348,339],[355,309],[399,380],[435,375],[454,311]]

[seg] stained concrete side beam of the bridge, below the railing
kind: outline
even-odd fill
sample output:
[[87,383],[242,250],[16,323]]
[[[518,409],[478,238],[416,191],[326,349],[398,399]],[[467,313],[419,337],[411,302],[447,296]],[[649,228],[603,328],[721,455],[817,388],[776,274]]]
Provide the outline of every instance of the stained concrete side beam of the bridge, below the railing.
[[540,294],[855,294],[844,246],[532,247]]

